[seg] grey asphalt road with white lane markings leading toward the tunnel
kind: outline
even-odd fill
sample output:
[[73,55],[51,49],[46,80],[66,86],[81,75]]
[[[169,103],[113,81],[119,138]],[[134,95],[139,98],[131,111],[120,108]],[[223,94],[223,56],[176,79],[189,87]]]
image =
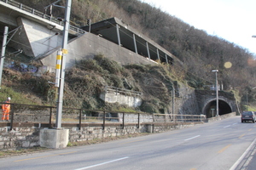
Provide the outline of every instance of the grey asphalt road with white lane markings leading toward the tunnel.
[[0,169],[236,170],[250,165],[255,125],[236,116],[166,133],[2,158]]

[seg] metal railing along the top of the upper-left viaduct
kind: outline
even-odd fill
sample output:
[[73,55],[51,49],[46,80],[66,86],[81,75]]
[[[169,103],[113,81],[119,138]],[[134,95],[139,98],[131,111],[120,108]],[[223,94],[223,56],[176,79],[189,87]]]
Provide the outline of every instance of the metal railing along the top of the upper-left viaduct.
[[[30,8],[22,3],[18,3],[16,1],[13,1],[13,0],[0,0],[4,3],[8,3],[16,8],[20,8],[21,10],[24,10],[30,14],[34,14],[34,15],[37,15],[39,16],[40,18],[43,18],[45,20],[49,20],[51,22],[54,22],[55,24],[58,24],[60,26],[64,26],[64,23],[60,20],[57,20],[55,19],[55,17],[52,17],[52,16],[49,16],[48,14],[44,14],[34,8]],[[79,34],[84,34],[85,31],[80,29],[79,27],[76,27],[76,26],[72,26],[72,25],[69,25],[69,29],[72,30],[72,31],[75,31],[75,32],[78,32]]]

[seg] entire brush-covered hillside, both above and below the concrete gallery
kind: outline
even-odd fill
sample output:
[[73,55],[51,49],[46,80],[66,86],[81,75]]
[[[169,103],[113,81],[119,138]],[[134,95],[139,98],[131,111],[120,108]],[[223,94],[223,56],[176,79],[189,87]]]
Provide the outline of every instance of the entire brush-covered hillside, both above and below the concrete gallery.
[[[55,2],[54,0],[17,1],[41,11],[44,11],[44,7],[49,3]],[[59,4],[63,5],[64,3],[65,1],[62,0]],[[83,65],[86,66],[77,65],[68,71],[64,105],[78,107],[82,105],[84,108],[105,107],[105,104],[97,99],[101,88],[107,84],[125,88],[124,79],[127,79],[133,90],[139,90],[145,94],[145,102],[138,109],[159,112],[170,102],[170,97],[167,94],[171,93],[170,87],[173,82],[180,81],[188,83],[193,88],[204,88],[215,81],[212,69],[219,70],[218,79],[224,84],[224,89],[239,90],[244,101],[246,101],[246,97],[250,101],[254,100],[255,93],[251,88],[255,86],[256,82],[251,77],[254,77],[255,67],[248,65],[248,61],[254,62],[254,60],[253,55],[249,54],[247,49],[238,47],[222,38],[209,36],[205,31],[197,30],[193,26],[183,23],[182,20],[162,12],[160,8],[151,7],[138,0],[73,0],[72,4],[71,20],[74,25],[84,26],[89,18],[92,22],[97,22],[114,16],[118,17],[136,28],[137,31],[143,32],[158,42],[163,48],[181,59],[184,65],[183,67],[177,65],[172,67],[166,65],[121,66],[114,61],[107,62],[102,57],[108,66],[111,65],[112,70],[108,70],[107,64],[103,61],[103,63],[97,59],[84,61]],[[53,10],[55,17],[63,15],[63,13],[62,8]],[[224,63],[227,61],[232,63],[230,69],[224,67]],[[24,93],[34,94],[38,100],[37,103],[54,105],[55,89],[48,83],[49,81],[53,82],[53,75],[44,75],[44,77],[38,78],[16,71],[5,71],[4,78],[6,80],[3,81],[3,84],[7,87],[18,90],[20,86]],[[156,89],[155,87],[161,88]],[[148,105],[152,105],[152,108],[148,109]],[[113,105],[109,107],[113,107]]]

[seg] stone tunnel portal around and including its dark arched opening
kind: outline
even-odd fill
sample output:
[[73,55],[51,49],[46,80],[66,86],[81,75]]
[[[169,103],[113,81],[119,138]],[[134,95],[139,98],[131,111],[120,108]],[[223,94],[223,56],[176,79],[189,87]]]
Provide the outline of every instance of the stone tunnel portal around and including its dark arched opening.
[[[201,114],[207,118],[216,116],[216,94],[212,90],[195,90],[195,96],[199,105]],[[218,92],[218,114],[224,115],[237,111],[236,99],[234,94],[219,91]]]

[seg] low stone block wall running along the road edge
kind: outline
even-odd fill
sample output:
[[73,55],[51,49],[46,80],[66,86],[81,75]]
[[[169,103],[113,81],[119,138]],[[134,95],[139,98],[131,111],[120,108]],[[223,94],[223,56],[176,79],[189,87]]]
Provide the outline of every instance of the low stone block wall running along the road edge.
[[[201,122],[199,122],[201,123]],[[9,127],[0,127],[0,150],[18,150],[39,146],[39,133],[42,127],[15,127],[9,131]],[[125,127],[107,126],[102,127],[66,127],[69,129],[69,142],[81,142],[92,139],[122,136],[132,133],[162,133],[168,130],[194,126],[195,123],[169,123],[169,124],[140,124],[125,125]],[[26,126],[26,124],[23,124]]]

